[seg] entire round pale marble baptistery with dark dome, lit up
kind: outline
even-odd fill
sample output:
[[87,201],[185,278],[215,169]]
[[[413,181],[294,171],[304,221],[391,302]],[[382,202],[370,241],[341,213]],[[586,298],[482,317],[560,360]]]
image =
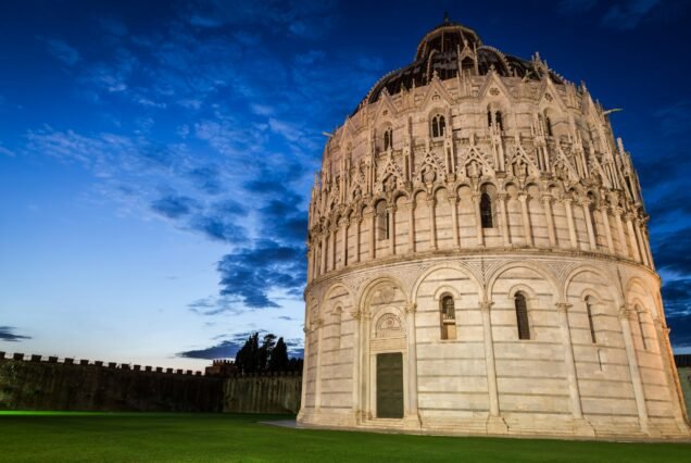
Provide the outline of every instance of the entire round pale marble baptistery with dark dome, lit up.
[[608,114],[449,20],[381,77],[312,190],[299,423],[688,437]]

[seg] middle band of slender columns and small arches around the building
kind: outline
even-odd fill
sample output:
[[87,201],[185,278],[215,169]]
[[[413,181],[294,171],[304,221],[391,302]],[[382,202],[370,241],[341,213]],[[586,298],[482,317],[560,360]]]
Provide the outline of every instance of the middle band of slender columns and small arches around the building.
[[464,248],[599,252],[653,268],[646,222],[617,191],[580,185],[508,179],[395,190],[337,209],[313,229],[309,281],[384,256]]

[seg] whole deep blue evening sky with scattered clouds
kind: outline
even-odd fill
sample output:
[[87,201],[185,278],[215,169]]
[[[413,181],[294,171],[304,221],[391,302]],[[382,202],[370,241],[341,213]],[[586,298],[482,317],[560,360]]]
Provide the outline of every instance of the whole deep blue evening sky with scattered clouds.
[[266,330],[300,353],[322,133],[449,11],[624,108],[673,343],[691,351],[687,2],[0,8],[0,350],[201,367]]

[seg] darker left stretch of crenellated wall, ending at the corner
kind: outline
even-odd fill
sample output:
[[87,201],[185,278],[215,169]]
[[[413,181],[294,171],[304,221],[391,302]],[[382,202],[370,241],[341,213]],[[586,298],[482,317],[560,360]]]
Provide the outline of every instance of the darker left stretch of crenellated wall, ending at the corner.
[[[223,379],[183,371],[0,360],[0,410],[217,412]],[[156,371],[159,370],[159,371]],[[167,372],[167,373],[166,373]]]

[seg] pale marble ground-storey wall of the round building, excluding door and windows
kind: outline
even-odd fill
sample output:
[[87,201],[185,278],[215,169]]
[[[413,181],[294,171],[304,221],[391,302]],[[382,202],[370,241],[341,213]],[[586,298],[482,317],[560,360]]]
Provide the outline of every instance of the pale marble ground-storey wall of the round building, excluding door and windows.
[[[377,417],[377,355],[401,352],[398,427],[688,435],[656,275],[602,256],[554,254],[400,256],[311,284],[300,418],[388,426]],[[528,338],[518,336],[517,292],[527,301]],[[440,314],[445,296],[453,320]],[[453,337],[443,335],[447,325]]]

